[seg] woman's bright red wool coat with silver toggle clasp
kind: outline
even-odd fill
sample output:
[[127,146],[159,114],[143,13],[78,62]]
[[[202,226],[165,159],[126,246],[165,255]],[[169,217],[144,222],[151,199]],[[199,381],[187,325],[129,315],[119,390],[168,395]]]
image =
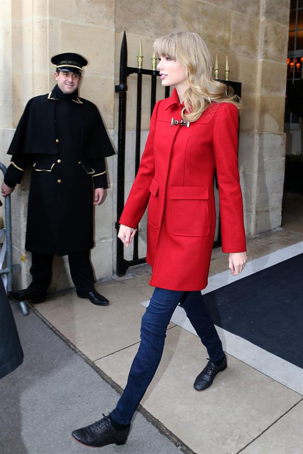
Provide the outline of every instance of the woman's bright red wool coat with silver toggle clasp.
[[136,228],[147,212],[149,284],[169,290],[207,286],[215,234],[217,169],[224,253],[246,250],[237,146],[238,111],[210,105],[190,126],[181,120],[176,89],[159,101],[150,120],[140,168],[120,224]]

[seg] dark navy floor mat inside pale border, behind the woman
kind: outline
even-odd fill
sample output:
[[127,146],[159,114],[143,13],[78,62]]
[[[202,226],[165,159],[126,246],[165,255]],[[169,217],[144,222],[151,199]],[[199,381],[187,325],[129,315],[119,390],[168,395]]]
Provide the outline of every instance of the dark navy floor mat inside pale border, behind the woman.
[[204,299],[216,325],[303,368],[303,254]]

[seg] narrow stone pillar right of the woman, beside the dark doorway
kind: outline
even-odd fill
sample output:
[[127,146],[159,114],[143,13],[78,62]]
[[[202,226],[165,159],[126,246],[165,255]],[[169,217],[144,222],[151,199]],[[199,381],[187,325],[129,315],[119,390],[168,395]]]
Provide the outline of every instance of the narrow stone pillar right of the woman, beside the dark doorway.
[[281,225],[289,0],[262,0],[256,86],[256,138],[250,234]]

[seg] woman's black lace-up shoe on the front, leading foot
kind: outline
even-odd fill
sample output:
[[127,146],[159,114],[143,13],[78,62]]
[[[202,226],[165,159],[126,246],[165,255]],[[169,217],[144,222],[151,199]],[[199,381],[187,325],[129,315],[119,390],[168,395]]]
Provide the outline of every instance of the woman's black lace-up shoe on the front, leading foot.
[[125,444],[130,430],[130,425],[126,429],[118,430],[112,425],[110,415],[73,431],[72,436],[79,443],[85,446],[102,447],[107,444]]

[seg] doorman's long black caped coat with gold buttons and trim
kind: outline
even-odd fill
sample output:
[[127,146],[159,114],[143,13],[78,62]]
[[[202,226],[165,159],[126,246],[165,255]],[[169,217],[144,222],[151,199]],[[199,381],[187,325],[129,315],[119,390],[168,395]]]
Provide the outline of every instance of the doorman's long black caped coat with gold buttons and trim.
[[107,188],[104,157],[114,154],[96,106],[60,93],[30,99],[8,152],[9,186],[33,166],[25,248],[39,254],[93,247],[93,187]]

